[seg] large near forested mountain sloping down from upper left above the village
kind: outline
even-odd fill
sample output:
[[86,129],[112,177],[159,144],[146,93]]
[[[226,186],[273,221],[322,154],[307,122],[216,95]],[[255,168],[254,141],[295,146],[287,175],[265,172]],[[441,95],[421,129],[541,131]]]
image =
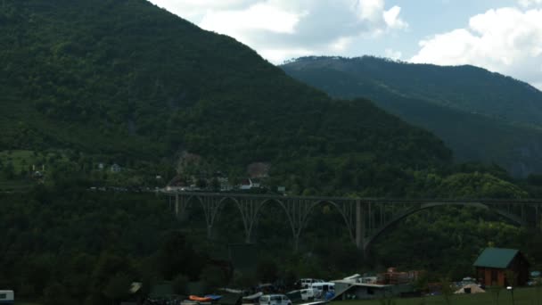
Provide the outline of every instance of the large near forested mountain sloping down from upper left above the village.
[[5,0],[0,36],[0,150],[120,162],[186,151],[214,169],[268,162],[279,177],[347,159],[398,171],[450,160],[422,128],[366,100],[333,100],[144,0]]

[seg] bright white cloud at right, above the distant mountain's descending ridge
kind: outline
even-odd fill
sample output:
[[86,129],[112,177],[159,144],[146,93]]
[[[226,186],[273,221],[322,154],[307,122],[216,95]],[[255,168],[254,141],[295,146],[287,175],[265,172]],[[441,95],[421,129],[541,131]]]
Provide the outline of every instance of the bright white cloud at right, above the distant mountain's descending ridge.
[[489,10],[472,17],[468,28],[428,37],[419,45],[411,62],[472,64],[542,83],[542,9]]

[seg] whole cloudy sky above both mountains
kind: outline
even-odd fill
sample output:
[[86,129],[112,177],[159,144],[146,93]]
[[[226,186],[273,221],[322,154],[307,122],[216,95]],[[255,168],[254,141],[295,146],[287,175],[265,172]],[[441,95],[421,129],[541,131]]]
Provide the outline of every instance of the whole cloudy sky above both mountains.
[[542,89],[542,0],[151,0],[275,64],[372,54],[473,64]]

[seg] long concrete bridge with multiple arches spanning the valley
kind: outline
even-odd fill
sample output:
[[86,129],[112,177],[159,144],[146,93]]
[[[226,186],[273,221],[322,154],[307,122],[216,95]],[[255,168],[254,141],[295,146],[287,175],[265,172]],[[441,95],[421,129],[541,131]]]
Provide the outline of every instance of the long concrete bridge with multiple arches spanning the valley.
[[160,190],[169,197],[170,207],[178,217],[185,215],[190,204],[199,204],[205,215],[207,235],[226,202],[234,202],[240,212],[245,242],[250,243],[262,208],[274,204],[282,209],[292,229],[293,247],[297,251],[301,232],[312,211],[319,205],[333,206],[341,214],[350,239],[366,251],[371,243],[401,219],[418,211],[443,205],[463,205],[492,210],[518,226],[541,227],[542,200],[538,199],[378,199],[348,197],[309,197],[269,194],[199,193]]

